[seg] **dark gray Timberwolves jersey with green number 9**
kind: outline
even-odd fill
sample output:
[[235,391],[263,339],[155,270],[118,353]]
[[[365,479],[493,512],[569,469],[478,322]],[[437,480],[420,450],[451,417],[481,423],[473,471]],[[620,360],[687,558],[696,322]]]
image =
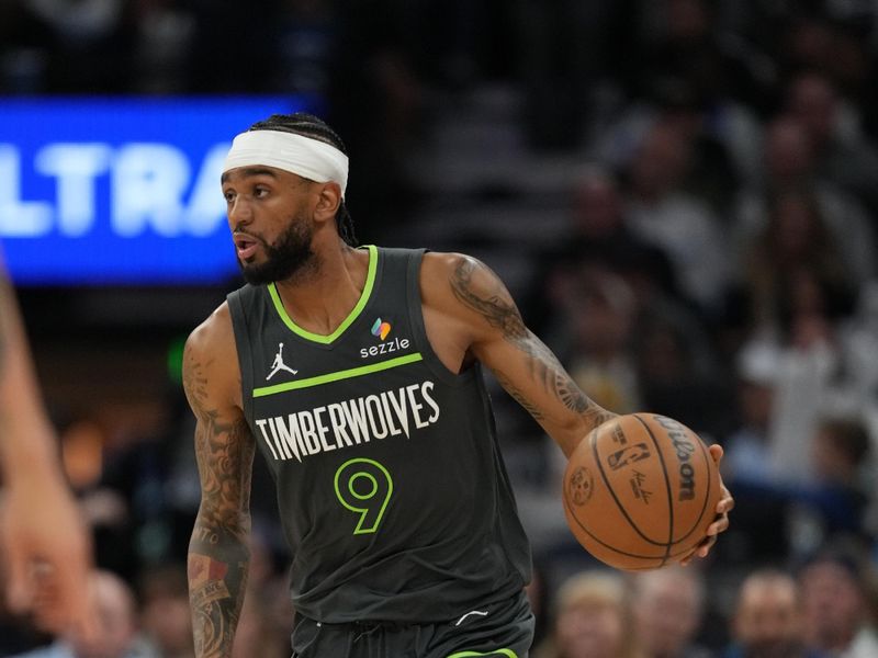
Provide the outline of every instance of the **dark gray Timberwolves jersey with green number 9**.
[[530,554],[479,367],[427,340],[421,251],[369,247],[362,296],[331,336],[272,285],[228,296],[244,411],[274,477],[302,614],[440,622],[520,591]]

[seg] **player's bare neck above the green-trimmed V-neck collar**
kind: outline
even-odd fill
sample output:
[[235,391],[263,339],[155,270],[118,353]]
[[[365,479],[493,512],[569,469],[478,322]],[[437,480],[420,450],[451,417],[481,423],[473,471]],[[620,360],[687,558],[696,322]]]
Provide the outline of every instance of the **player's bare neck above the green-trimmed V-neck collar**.
[[302,329],[329,336],[350,315],[362,295],[369,270],[369,252],[351,249],[341,240],[322,248],[314,245],[316,270],[295,282],[278,282],[277,288],[290,318]]

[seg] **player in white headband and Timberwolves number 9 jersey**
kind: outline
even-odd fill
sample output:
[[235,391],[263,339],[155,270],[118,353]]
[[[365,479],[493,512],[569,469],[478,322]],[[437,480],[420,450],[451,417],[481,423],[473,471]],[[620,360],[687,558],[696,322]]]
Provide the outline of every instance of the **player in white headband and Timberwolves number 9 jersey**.
[[[294,656],[524,658],[529,547],[480,370],[566,455],[614,415],[481,262],[354,248],[347,178],[341,140],[304,114],[255,124],[225,162],[248,285],[184,352],[202,487],[189,549],[196,655],[232,649],[258,449],[293,551]],[[727,492],[699,555],[731,507]]]

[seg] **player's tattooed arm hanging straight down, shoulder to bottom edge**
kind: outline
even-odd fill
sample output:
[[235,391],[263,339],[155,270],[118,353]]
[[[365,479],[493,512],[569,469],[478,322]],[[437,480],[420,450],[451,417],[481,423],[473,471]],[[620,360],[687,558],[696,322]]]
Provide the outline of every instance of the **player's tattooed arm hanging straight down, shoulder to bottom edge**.
[[255,442],[240,404],[240,372],[228,306],[187,340],[183,388],[195,415],[201,480],[189,543],[189,600],[198,658],[232,655],[247,583]]

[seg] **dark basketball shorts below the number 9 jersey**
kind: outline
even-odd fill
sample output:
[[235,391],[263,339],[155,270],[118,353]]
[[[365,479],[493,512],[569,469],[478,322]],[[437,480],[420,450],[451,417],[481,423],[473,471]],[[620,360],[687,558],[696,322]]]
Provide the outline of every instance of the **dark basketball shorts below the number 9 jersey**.
[[296,615],[293,658],[527,658],[533,623],[524,591],[435,624],[326,624]]

